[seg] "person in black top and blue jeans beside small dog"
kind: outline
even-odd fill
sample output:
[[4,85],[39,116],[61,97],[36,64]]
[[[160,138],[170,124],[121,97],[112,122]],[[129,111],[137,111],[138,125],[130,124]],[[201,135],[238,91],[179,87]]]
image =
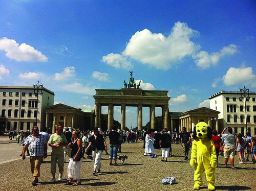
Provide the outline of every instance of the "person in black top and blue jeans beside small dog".
[[[120,133],[116,131],[116,127],[113,126],[111,132],[109,133],[109,138],[110,138],[110,165],[115,165],[117,166],[117,151],[118,151],[118,138],[120,136]],[[114,164],[112,163],[112,159],[114,159]]]

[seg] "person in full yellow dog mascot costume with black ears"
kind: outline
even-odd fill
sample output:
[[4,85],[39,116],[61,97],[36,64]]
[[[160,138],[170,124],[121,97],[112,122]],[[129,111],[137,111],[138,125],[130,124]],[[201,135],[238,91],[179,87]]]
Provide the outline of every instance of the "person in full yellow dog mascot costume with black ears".
[[211,128],[206,123],[200,122],[194,127],[193,137],[190,165],[195,168],[194,189],[199,189],[203,185],[205,171],[208,189],[215,190],[217,155],[214,141],[211,140]]

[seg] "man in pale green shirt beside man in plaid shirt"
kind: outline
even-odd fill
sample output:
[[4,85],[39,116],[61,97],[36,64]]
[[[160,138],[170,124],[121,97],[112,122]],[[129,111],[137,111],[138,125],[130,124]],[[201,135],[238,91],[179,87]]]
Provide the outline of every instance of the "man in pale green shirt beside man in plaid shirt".
[[63,146],[68,145],[68,141],[66,136],[62,133],[63,129],[61,125],[58,125],[56,128],[56,133],[52,134],[49,139],[49,146],[52,147],[51,153],[51,173],[52,180],[51,182],[55,182],[55,173],[56,173],[56,162],[58,160],[58,168],[59,168],[59,178],[58,180],[62,180],[63,171],[64,171],[64,150]]

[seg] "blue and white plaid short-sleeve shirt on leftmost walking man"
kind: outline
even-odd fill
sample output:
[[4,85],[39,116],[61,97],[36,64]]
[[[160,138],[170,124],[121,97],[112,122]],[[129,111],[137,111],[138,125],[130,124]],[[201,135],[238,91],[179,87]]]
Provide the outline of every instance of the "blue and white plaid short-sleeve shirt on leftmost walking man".
[[47,143],[44,135],[38,134],[35,138],[33,135],[29,135],[26,141],[26,145],[30,149],[30,156],[44,156],[44,145]]

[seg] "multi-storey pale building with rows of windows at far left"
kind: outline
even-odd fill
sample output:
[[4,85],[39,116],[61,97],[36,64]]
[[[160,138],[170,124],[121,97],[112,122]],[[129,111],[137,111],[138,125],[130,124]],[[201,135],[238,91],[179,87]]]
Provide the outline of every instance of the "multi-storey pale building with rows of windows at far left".
[[46,107],[53,102],[54,92],[45,87],[37,102],[32,86],[0,86],[0,131],[31,131],[36,125],[36,115],[39,129],[45,127]]

